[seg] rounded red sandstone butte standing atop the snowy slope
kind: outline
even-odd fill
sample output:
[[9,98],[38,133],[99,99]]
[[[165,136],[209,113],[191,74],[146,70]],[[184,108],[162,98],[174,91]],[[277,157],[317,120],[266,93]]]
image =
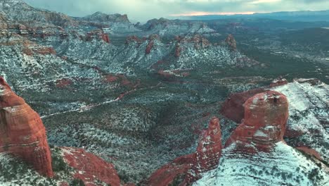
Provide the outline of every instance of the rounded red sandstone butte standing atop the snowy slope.
[[288,100],[276,91],[254,95],[245,104],[243,123],[234,130],[225,147],[236,144],[247,153],[269,151],[273,144],[283,141],[288,120]]

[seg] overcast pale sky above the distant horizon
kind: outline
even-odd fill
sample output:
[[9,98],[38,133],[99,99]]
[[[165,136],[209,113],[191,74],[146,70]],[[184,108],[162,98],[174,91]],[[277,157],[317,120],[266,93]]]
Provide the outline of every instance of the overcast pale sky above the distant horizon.
[[265,13],[273,11],[319,11],[329,9],[329,0],[25,0],[38,8],[69,16],[86,16],[96,11],[128,14],[146,21],[179,15]]

